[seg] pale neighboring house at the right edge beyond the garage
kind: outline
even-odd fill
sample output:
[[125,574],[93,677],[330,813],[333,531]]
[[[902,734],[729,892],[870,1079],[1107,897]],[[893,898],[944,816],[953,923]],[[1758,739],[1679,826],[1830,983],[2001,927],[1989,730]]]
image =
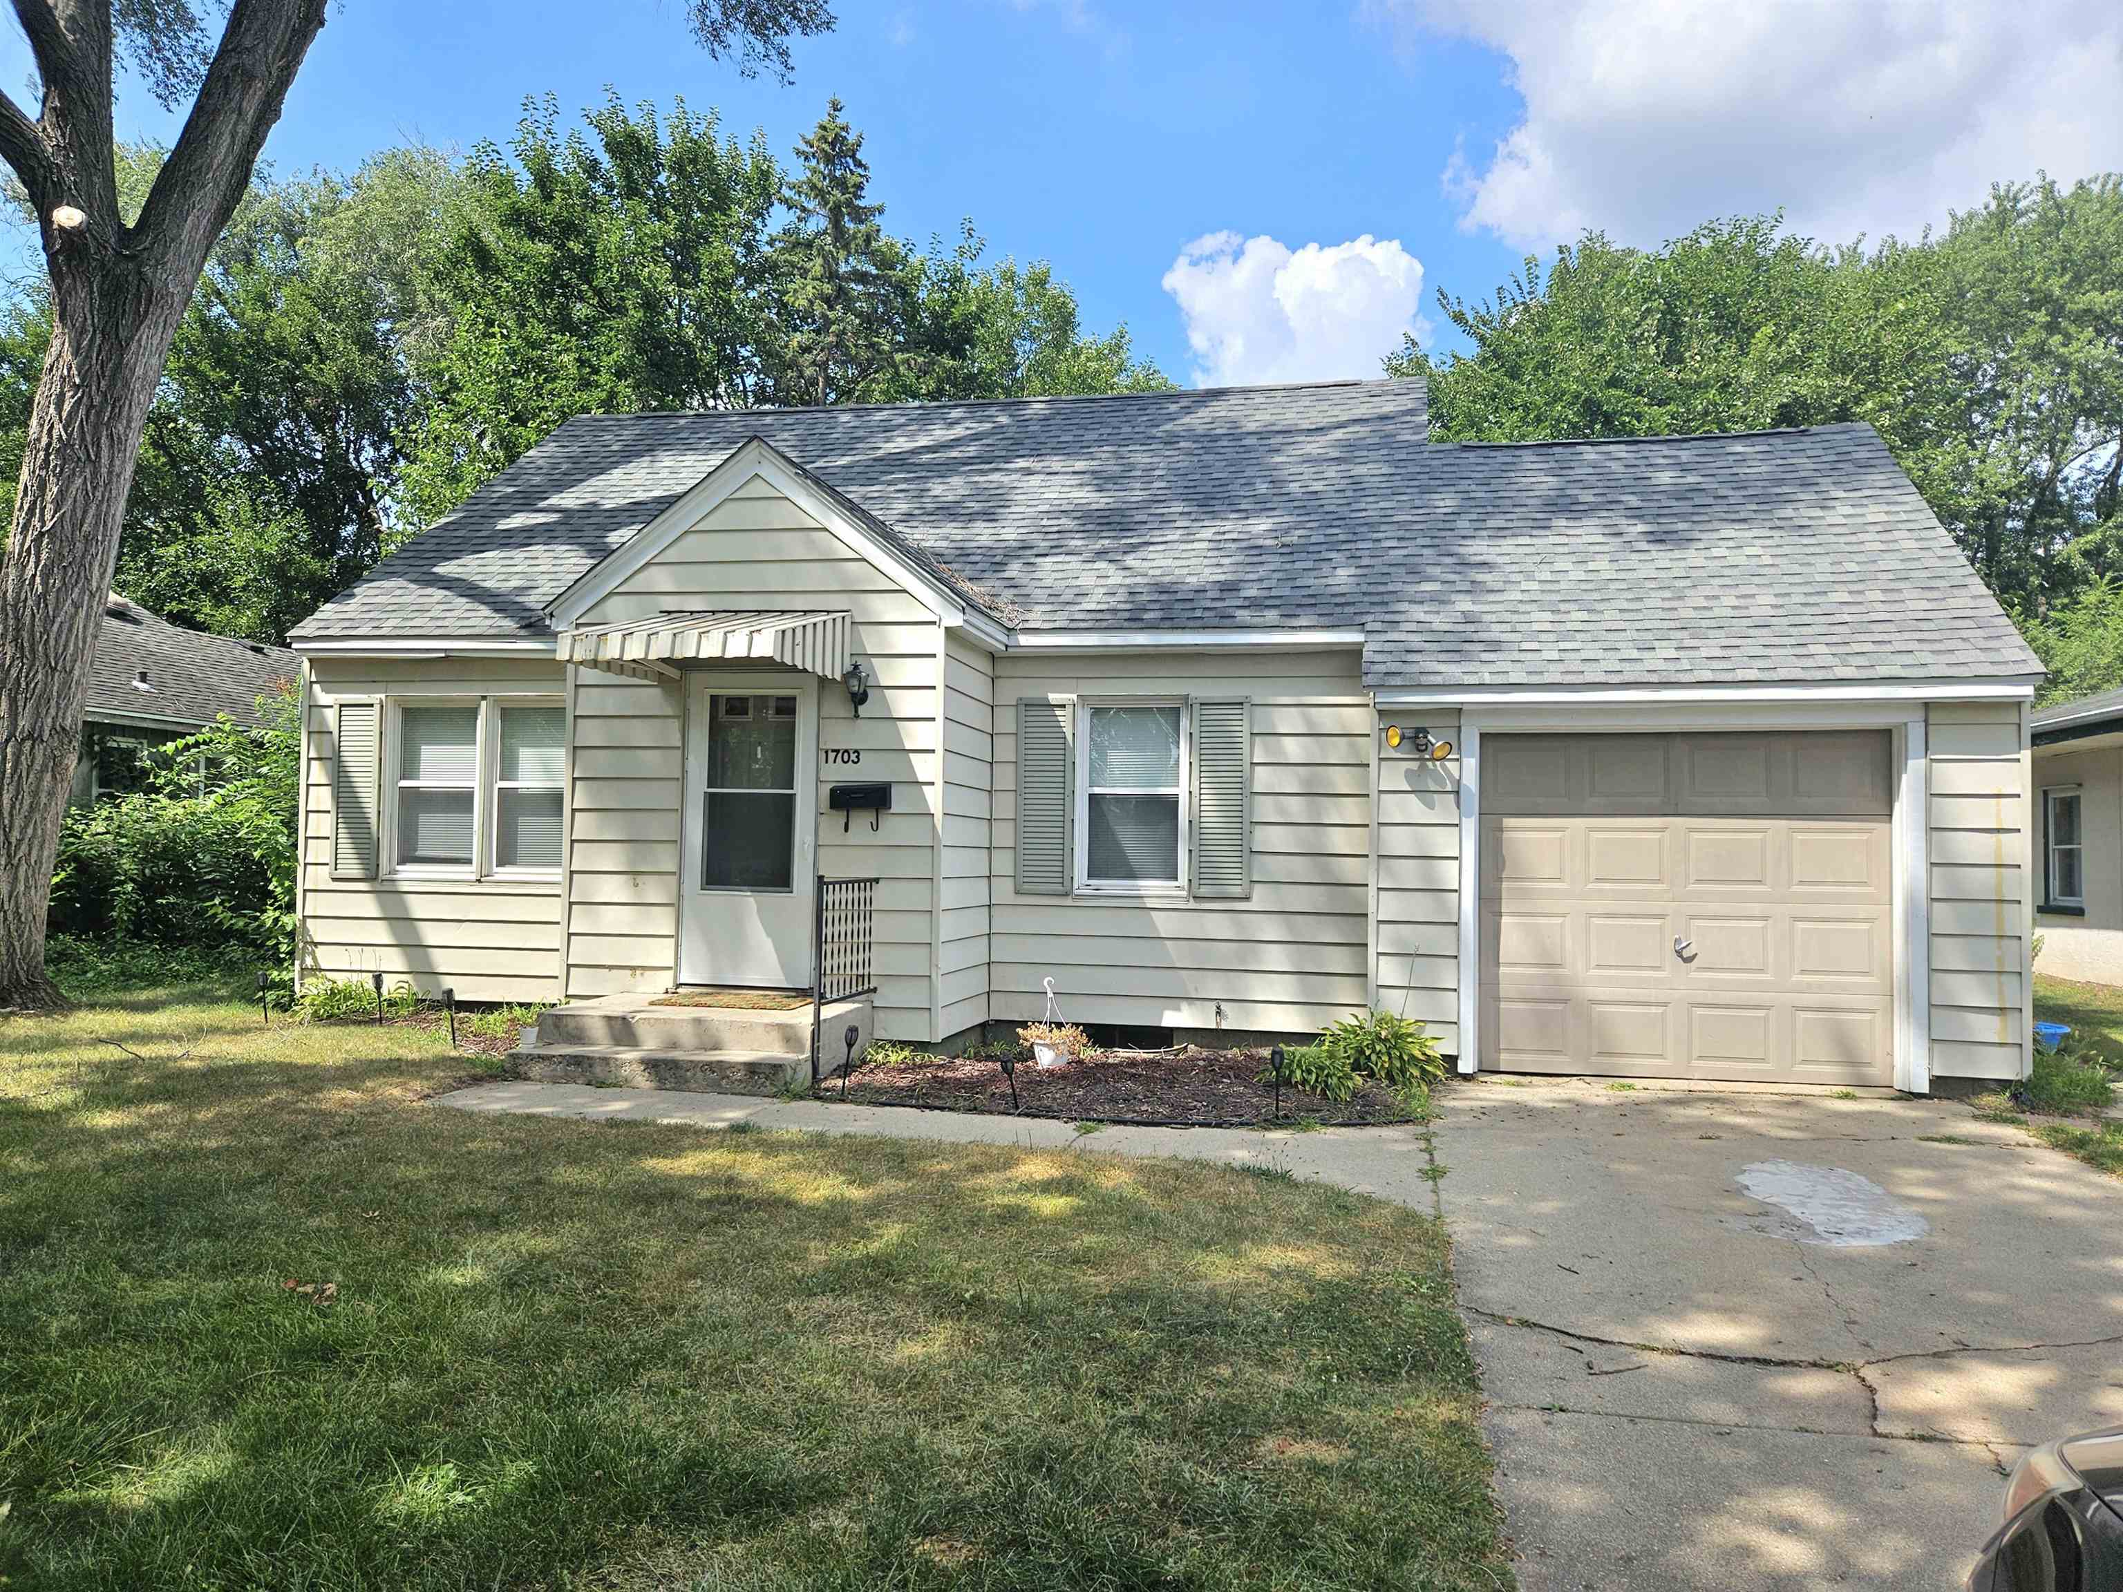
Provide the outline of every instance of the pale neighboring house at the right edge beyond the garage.
[[2044,707],[2030,726],[2042,972],[2123,985],[2123,690]]

